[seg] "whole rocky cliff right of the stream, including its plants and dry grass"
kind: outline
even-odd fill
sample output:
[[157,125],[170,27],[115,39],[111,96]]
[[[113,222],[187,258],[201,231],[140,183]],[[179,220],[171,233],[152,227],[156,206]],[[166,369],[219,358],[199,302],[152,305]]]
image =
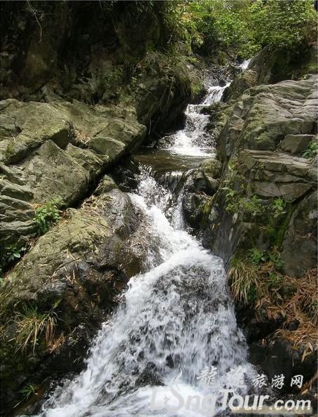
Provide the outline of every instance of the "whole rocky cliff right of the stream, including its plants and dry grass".
[[277,56],[263,66],[256,58],[226,91],[228,102],[210,109],[219,161],[206,161],[193,174],[210,192],[198,194],[192,224],[225,260],[251,361],[269,378],[280,369],[286,378],[300,373],[310,381],[317,325],[317,74],[306,64],[301,78],[258,84],[270,80]]

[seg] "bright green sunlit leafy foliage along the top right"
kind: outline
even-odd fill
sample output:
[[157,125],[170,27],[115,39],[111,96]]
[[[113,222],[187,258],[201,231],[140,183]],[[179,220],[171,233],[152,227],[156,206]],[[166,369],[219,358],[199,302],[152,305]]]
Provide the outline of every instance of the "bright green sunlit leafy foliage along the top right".
[[185,1],[184,25],[192,44],[212,51],[235,48],[249,58],[264,46],[293,49],[316,39],[312,0]]

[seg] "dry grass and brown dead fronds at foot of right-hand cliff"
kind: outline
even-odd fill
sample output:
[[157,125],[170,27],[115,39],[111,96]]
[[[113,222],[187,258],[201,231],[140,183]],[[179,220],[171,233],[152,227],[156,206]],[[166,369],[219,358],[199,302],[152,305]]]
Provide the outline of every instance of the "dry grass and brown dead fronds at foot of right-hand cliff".
[[[253,263],[248,258],[234,259],[229,280],[233,298],[254,306],[259,322],[263,321],[264,314],[268,319],[284,319],[275,336],[290,340],[294,348],[302,345],[303,359],[318,349],[316,269],[295,278],[277,272],[272,260]],[[290,330],[291,324],[297,329]]]

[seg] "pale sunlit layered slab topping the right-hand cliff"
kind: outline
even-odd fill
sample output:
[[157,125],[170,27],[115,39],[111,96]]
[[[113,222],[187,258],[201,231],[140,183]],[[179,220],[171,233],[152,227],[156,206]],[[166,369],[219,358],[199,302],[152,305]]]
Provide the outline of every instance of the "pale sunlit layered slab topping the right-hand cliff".
[[312,135],[316,91],[314,75],[245,91],[219,136],[221,157],[230,157],[238,147],[274,151],[286,135]]

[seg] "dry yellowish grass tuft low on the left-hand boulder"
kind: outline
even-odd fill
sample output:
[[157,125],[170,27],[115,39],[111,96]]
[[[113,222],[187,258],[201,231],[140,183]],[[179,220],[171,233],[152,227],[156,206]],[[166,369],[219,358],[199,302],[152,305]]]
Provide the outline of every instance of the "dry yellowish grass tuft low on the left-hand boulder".
[[40,339],[43,339],[46,346],[53,344],[57,316],[55,312],[40,313],[36,307],[25,307],[23,312],[15,315],[17,331],[15,335],[16,351],[25,352],[32,348],[34,352]]

